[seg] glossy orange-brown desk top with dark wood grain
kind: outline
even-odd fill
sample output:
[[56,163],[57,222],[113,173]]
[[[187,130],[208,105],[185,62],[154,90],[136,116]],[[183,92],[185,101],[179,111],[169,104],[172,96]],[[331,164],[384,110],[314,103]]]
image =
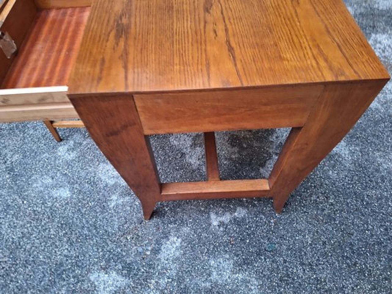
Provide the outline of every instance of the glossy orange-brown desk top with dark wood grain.
[[93,0],[69,92],[388,77],[341,0]]

